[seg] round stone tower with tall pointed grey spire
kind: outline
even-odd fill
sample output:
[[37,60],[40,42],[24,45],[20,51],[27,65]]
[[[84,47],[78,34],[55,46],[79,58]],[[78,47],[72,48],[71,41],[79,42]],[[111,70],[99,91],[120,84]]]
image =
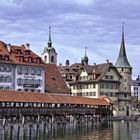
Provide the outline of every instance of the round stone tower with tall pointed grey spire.
[[125,99],[125,103],[123,104],[127,106],[127,104],[130,102],[130,96],[131,96],[132,67],[128,62],[126,50],[125,50],[124,24],[122,26],[122,39],[121,39],[120,52],[115,66],[118,69],[118,72],[122,76],[122,80],[120,84],[120,96],[122,96]]

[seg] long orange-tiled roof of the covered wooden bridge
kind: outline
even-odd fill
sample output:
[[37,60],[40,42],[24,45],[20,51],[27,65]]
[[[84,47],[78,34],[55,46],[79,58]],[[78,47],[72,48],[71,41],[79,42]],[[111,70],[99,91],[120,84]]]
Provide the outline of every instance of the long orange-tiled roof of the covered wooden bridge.
[[52,104],[84,104],[84,105],[111,105],[104,98],[85,98],[79,96],[67,96],[56,94],[25,93],[16,91],[0,91],[0,102],[24,102],[24,103],[52,103]]

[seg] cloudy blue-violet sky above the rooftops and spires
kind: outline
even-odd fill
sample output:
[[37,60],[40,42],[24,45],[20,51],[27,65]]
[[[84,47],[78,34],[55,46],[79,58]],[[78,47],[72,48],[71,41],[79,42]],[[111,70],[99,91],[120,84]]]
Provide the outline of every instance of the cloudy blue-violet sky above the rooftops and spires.
[[58,64],[81,62],[87,47],[89,64],[115,64],[122,23],[133,78],[140,74],[140,1],[138,0],[0,0],[0,40],[30,44],[42,55],[51,26]]

